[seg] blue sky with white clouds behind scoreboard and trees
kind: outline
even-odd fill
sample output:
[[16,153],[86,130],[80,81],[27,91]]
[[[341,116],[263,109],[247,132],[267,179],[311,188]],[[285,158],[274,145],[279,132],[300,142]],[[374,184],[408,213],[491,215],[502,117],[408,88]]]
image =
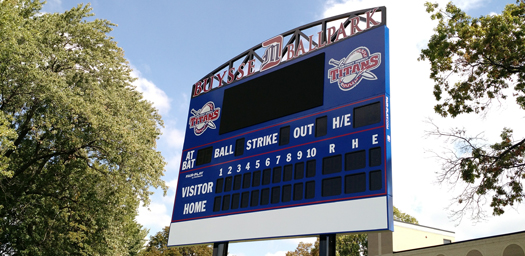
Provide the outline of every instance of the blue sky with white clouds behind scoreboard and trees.
[[[441,6],[447,1],[438,0]],[[467,14],[479,17],[500,13],[513,0],[453,1]],[[80,0],[48,0],[44,12],[63,12]],[[87,3],[87,2],[85,2]],[[444,119],[433,112],[433,82],[429,63],[417,61],[426,47],[435,22],[425,12],[424,1],[403,0],[267,0],[267,1],[176,1],[94,0],[95,18],[117,24],[110,36],[124,49],[137,78],[137,90],[151,101],[164,120],[158,141],[167,166],[166,196],[155,190],[148,207],[137,220],[150,235],[170,224],[192,85],[213,69],[241,52],[280,33],[326,17],[375,6],[387,7],[390,29],[390,84],[394,205],[414,216],[421,225],[453,231],[456,240],[523,231],[523,205],[490,215],[481,222],[466,216],[461,222],[449,218],[452,198],[461,186],[439,184],[440,162],[434,153],[450,144],[429,137],[433,120],[440,129],[465,127],[487,140],[498,138],[503,127],[514,128],[515,138],[523,111],[512,101],[495,105],[485,116],[465,115]],[[457,204],[456,204],[457,205]],[[280,256],[294,250],[299,241],[315,238],[231,243],[237,256]]]

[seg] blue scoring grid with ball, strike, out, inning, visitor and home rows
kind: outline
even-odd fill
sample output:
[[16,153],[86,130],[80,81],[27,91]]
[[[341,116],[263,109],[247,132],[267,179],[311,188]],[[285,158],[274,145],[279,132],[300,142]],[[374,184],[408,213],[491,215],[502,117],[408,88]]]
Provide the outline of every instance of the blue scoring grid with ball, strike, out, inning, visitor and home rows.
[[[382,99],[381,99],[382,98]],[[378,101],[381,100],[381,101]],[[384,102],[383,96],[377,96],[368,100],[362,100],[359,102],[353,102],[349,103],[347,105],[335,107],[333,109],[324,110],[319,113],[310,114],[307,116],[299,117],[294,120],[288,120],[283,123],[275,124],[269,127],[260,128],[256,131],[262,131],[267,130],[274,127],[279,127],[279,133],[273,133],[271,135],[272,139],[261,139],[261,137],[257,137],[255,139],[252,139],[252,142],[255,142],[259,144],[259,146],[266,146],[268,143],[279,143],[277,139],[275,138],[283,138],[282,131],[286,130],[283,128],[289,128],[288,125],[291,122],[305,119],[305,118],[311,118],[314,117],[316,120],[327,120],[326,119],[326,113],[333,112],[335,110],[341,110],[346,109],[349,107],[352,107],[353,105],[359,105],[359,104],[365,104],[364,107],[368,107],[366,104],[370,104],[370,102],[373,102],[373,106],[379,106],[383,110],[382,115],[386,115],[386,111],[384,108],[381,107]],[[353,111],[351,111],[353,112]],[[358,114],[359,115],[359,114]],[[321,117],[317,117],[321,116]],[[344,114],[342,116],[336,116],[332,118],[332,126],[333,127],[343,127],[345,124],[350,125],[354,121],[350,121],[351,115]],[[355,115],[354,115],[355,116]],[[359,116],[358,116],[359,117]],[[321,118],[321,119],[320,119]],[[354,118],[356,119],[356,118]],[[379,121],[378,121],[379,123]],[[326,125],[325,125],[326,126]],[[365,125],[366,126],[366,125]],[[319,127],[319,126],[316,126]],[[188,187],[182,188],[182,197],[190,197],[193,195],[200,195],[200,194],[206,194],[206,193],[212,193],[216,196],[213,200],[213,212],[215,214],[209,215],[206,217],[216,217],[221,216],[225,214],[233,214],[233,213],[244,213],[244,212],[251,212],[251,211],[258,211],[258,210],[269,210],[269,209],[277,209],[282,207],[289,207],[289,206],[300,206],[300,205],[307,205],[307,204],[313,204],[313,203],[322,203],[322,202],[330,202],[330,201],[339,201],[339,200],[348,200],[348,199],[354,199],[354,198],[361,198],[364,197],[364,195],[360,195],[359,192],[365,192],[365,190],[370,191],[377,191],[376,194],[366,195],[366,196],[379,196],[379,195],[385,195],[386,191],[382,190],[382,188],[387,187],[387,178],[386,178],[386,172],[381,171],[386,169],[386,155],[381,150],[382,148],[386,148],[386,141],[382,143],[382,145],[378,145],[379,142],[376,140],[374,141],[374,138],[377,138],[378,132],[383,133],[383,137],[386,137],[384,135],[384,129],[385,126],[376,126],[373,128],[363,129],[360,131],[353,131],[349,133],[339,134],[333,137],[323,138],[323,136],[319,136],[318,140],[305,142],[303,144],[293,145],[289,147],[274,149],[272,151],[263,152],[255,155],[245,156],[245,157],[239,157],[237,159],[228,160],[225,162],[218,162],[211,165],[206,165],[202,167],[196,167],[191,170],[181,171],[181,174],[194,172],[201,169],[208,169],[211,167],[214,167],[216,171],[219,172],[219,178],[215,183],[209,182],[204,184],[197,184],[192,185]],[[244,134],[239,134],[230,138],[225,138],[222,140],[231,140],[233,138],[247,136],[250,133],[256,132],[256,131],[250,131],[246,132]],[[298,131],[298,132],[296,132]],[[296,129],[294,133],[299,133],[298,136],[301,136],[301,134],[309,134],[314,133],[313,126],[307,126],[307,127],[300,127],[299,129]],[[315,144],[318,142],[330,142],[330,140],[342,138],[342,137],[352,137],[352,135],[356,135],[358,133],[372,133],[371,140],[372,144],[376,145],[376,147],[370,148],[369,152],[367,153],[366,150],[359,148],[359,150],[351,150],[346,153],[337,154],[334,156],[328,156],[322,159],[321,166],[322,168],[317,168],[317,160],[315,156],[317,155],[317,151],[320,150],[317,147],[315,147]],[[293,135],[292,135],[293,136]],[[354,136],[355,137],[355,136]],[[275,141],[271,141],[275,139]],[[243,139],[237,139],[236,141],[243,141]],[[358,147],[359,139],[354,138],[352,141],[352,148]],[[216,142],[210,142],[207,145],[215,144]],[[364,142],[361,142],[364,143]],[[237,143],[236,143],[237,144]],[[314,146],[308,146],[314,144]],[[357,145],[356,145],[357,144]],[[243,143],[244,145],[244,143]],[[329,144],[333,145],[332,148],[328,148],[328,150],[335,151],[336,144]],[[206,145],[203,145],[206,146]],[[230,145],[232,146],[232,145]],[[237,149],[237,147],[235,147]],[[289,153],[292,149],[295,148],[306,148],[305,152],[302,150],[295,150],[293,151],[294,154]],[[221,157],[225,154],[235,154],[237,152],[236,150],[233,150],[233,147],[227,147],[227,148],[215,148],[213,151],[211,150],[213,147],[205,147],[201,149],[201,151],[197,152],[197,155],[199,153],[206,155],[208,160],[202,160],[204,162],[211,161],[212,155],[213,157]],[[186,149],[184,150],[184,154],[187,155],[187,152],[191,152],[194,150],[194,148]],[[209,151],[209,153],[204,152]],[[234,152],[235,151],[235,152]],[[213,154],[211,153],[213,152]],[[283,152],[283,153],[281,153]],[[278,153],[275,155],[274,158],[266,157],[268,154]],[[368,155],[368,158],[367,158]],[[257,159],[257,160],[255,160]],[[366,161],[368,159],[368,163]],[[199,157],[197,156],[197,162],[199,160]],[[244,161],[248,160],[248,161]],[[239,162],[242,162],[240,164]],[[343,164],[344,162],[344,164]],[[198,164],[197,164],[198,165]],[[379,167],[383,165],[382,167]],[[368,167],[375,167],[374,171],[368,171],[368,179],[366,178],[366,171],[364,171],[364,168]],[[335,175],[335,176],[324,176],[328,178],[323,178],[321,183],[321,191],[322,191],[322,197],[329,197],[333,195],[339,195],[339,194],[346,194],[346,197],[343,198],[337,198],[337,199],[325,199],[325,200],[319,200],[314,201],[314,195],[315,195],[315,179],[313,179],[316,176],[316,172],[318,170],[321,170],[322,175],[328,175],[333,173],[340,173],[342,170],[345,171],[343,173],[344,176],[344,182],[341,182],[342,179],[341,174]],[[374,168],[372,168],[374,169]],[[252,170],[255,170],[252,172]],[[358,172],[361,170],[360,172]],[[229,176],[231,175],[231,176]],[[192,177],[192,176],[190,176]],[[311,179],[308,179],[311,178]],[[369,184],[366,184],[366,180],[369,181]],[[282,182],[281,182],[282,181]],[[283,183],[284,182],[284,183]],[[281,184],[279,186],[272,186],[272,184]],[[341,191],[343,189],[343,183],[344,183],[344,192]],[[211,184],[211,185],[210,185]],[[282,185],[284,184],[284,185]],[[282,188],[281,188],[282,187]],[[281,192],[282,191],[282,192]],[[304,199],[312,199],[307,200],[306,202],[301,203],[293,203],[294,201],[297,202],[299,200],[303,199],[303,191],[304,191]],[[271,192],[271,193],[270,193]],[[217,196],[218,195],[218,196]],[[222,199],[221,199],[222,197]],[[271,206],[278,204],[279,202],[292,202],[291,204],[288,204],[286,206]],[[260,206],[258,209],[253,209],[253,207]],[[203,204],[201,202],[196,202],[193,205],[192,204],[185,204],[183,215],[185,214],[192,214],[196,212],[200,212],[199,207],[203,207]],[[247,210],[246,208],[250,207],[251,209]],[[235,210],[235,211],[232,211]],[[221,213],[224,211],[228,211],[228,213]],[[195,217],[195,218],[187,218],[187,219],[180,219],[177,221],[185,221],[185,220],[191,220],[191,219],[198,219],[202,217]]]

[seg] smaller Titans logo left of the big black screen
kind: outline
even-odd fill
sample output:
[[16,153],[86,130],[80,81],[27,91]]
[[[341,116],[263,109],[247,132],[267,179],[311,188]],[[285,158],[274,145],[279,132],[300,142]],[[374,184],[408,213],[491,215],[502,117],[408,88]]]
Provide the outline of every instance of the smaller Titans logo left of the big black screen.
[[192,109],[193,116],[190,118],[190,128],[193,128],[195,135],[200,136],[207,128],[215,129],[213,121],[219,119],[221,108],[216,108],[215,103],[208,101],[201,109]]

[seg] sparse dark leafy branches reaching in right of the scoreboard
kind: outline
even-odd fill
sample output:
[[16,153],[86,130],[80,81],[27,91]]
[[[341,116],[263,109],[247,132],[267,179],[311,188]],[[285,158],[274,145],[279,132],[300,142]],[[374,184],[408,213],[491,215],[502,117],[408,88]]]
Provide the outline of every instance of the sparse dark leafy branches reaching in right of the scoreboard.
[[[431,3],[426,7],[438,25],[419,60],[431,64],[436,113],[452,118],[486,114],[495,102],[512,98],[525,109],[525,2],[479,18],[471,18],[452,3],[444,10]],[[473,219],[483,218],[487,200],[493,215],[522,202],[525,138],[516,139],[512,129],[504,128],[501,140],[489,143],[465,129],[435,128],[432,135],[448,138],[458,148],[438,156],[443,160],[439,180],[466,183],[454,200],[460,206],[453,211],[455,217],[470,212]]]

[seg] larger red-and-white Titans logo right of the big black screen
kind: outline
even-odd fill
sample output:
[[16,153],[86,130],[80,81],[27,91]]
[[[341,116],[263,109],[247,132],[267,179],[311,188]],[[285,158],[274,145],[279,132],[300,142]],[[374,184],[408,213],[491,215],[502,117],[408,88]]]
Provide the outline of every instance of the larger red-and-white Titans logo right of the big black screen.
[[337,82],[341,90],[349,91],[354,89],[363,78],[377,79],[377,76],[370,71],[381,65],[381,53],[370,54],[368,48],[361,46],[339,61],[330,59],[328,64],[335,66],[328,70],[330,83]]

